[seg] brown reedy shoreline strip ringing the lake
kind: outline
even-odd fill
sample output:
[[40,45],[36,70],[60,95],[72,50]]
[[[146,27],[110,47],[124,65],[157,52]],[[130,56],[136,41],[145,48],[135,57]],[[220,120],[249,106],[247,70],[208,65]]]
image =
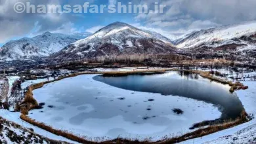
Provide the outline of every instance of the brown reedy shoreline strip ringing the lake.
[[[32,120],[32,118],[29,118],[28,116],[26,116],[26,114],[28,113],[28,111],[35,109],[38,106],[38,103],[36,101],[36,99],[33,98],[33,90],[38,89],[43,87],[44,84],[48,84],[51,82],[55,82],[55,81],[60,81],[62,79],[66,79],[69,77],[76,77],[78,75],[86,75],[86,74],[103,74],[103,75],[129,75],[129,74],[134,74],[134,73],[157,73],[157,72],[165,72],[165,71],[180,71],[179,69],[158,69],[158,70],[154,70],[154,71],[125,71],[125,72],[120,72],[120,71],[112,71],[112,72],[84,72],[84,73],[75,73],[72,75],[68,75],[66,77],[60,77],[56,80],[53,81],[48,81],[48,82],[41,82],[39,84],[33,84],[32,86],[29,86],[28,92],[26,93],[25,99],[22,102],[22,105],[26,104],[26,107],[21,107],[20,111],[22,113],[22,115],[20,116],[20,118],[22,118],[22,120],[25,120],[26,122],[29,122],[30,124],[33,124],[35,126],[38,126],[39,128],[42,128],[44,130],[47,130],[53,134],[56,135],[62,135],[63,137],[66,137],[68,139],[72,139],[73,141],[77,141],[79,143],[85,143],[85,142],[92,142],[92,141],[86,141],[85,139],[82,139],[81,137],[77,137],[76,135],[72,135],[72,134],[68,134],[66,132],[62,132],[60,130],[54,130],[54,128],[51,128],[50,126],[46,126],[45,124],[41,123],[41,122],[37,122],[35,120]],[[217,82],[221,82],[223,84],[229,84],[231,86],[236,86],[236,84],[231,84],[231,82],[229,81],[224,81],[221,80],[219,78],[215,78],[211,75],[209,75],[209,72],[205,72],[205,71],[192,71],[192,70],[188,70],[188,72],[190,73],[197,73],[200,74],[202,77],[205,77],[207,79],[210,79],[211,81],[217,81]],[[240,118],[240,120],[235,120],[234,122],[226,122],[226,124],[222,124],[222,125],[218,125],[218,126],[210,126],[211,128],[205,128],[205,129],[201,129],[201,130],[196,130],[195,132],[192,132],[190,134],[186,134],[186,135],[182,135],[182,137],[177,137],[177,138],[173,138],[173,139],[165,139],[165,141],[158,141],[160,143],[165,143],[166,141],[172,143],[173,141],[178,142],[178,141],[184,141],[187,140],[187,137],[199,137],[202,135],[207,135],[207,134],[212,134],[213,132],[218,132],[219,130],[224,130],[226,128],[231,128],[233,126],[236,126],[238,124],[242,124],[246,119],[247,114],[245,113],[245,111],[243,111],[242,116]],[[247,119],[246,119],[247,120]],[[213,130],[211,130],[213,129]],[[200,133],[201,132],[201,133]],[[204,132],[204,134],[202,134],[202,132]],[[200,133],[200,134],[198,134]],[[129,141],[129,140],[125,140],[125,139],[114,139],[113,141],[106,141],[106,143],[111,142],[114,143],[115,141]],[[150,143],[150,142],[148,142]]]

